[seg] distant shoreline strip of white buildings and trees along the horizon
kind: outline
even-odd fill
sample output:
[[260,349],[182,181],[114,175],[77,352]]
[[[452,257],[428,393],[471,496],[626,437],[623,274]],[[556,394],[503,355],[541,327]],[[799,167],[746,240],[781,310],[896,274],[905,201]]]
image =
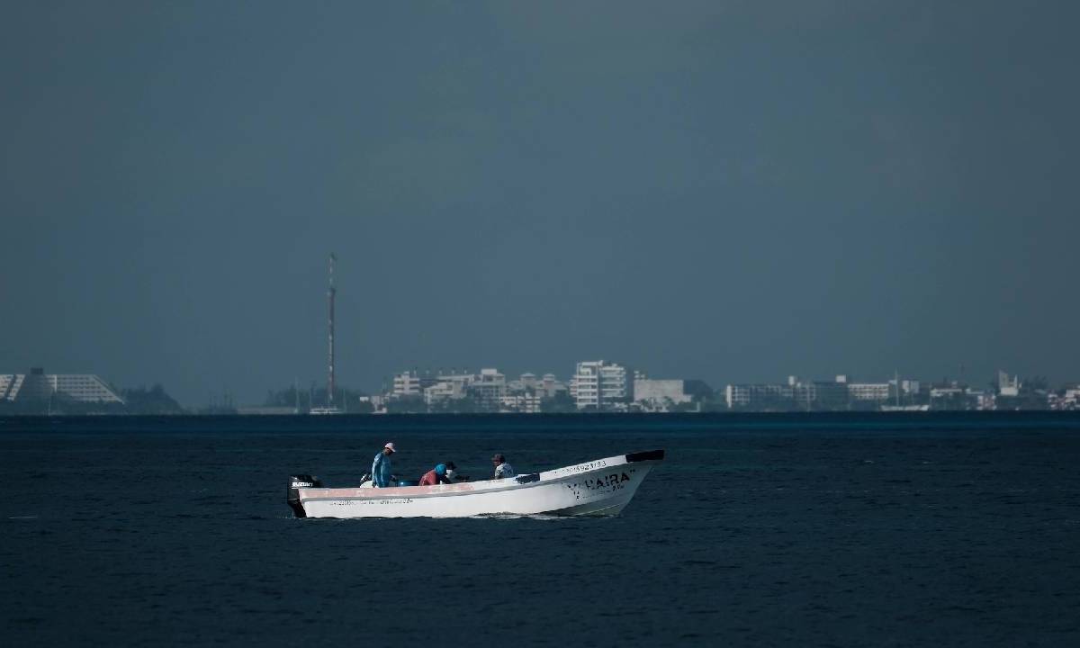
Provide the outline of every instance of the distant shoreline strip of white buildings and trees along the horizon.
[[[373,391],[348,386],[337,386],[332,391],[332,384],[327,381],[325,387],[316,388],[316,381],[312,380],[307,386],[295,381],[285,392],[268,388],[266,400],[261,403],[238,401],[233,392],[224,389],[221,392],[211,391],[208,402],[183,405],[189,413],[206,414],[235,414],[238,408],[241,414],[287,414],[286,409],[298,414],[308,409],[312,414],[339,414],[350,411],[350,406],[355,413],[357,405],[363,409],[372,404],[377,413],[386,413],[388,403],[415,401],[430,411],[455,411],[445,406],[464,399],[481,410],[540,413],[544,411],[542,401],[562,394],[571,400],[579,410],[624,411],[631,405],[631,410],[666,411],[671,407],[697,403],[694,408],[675,407],[674,410],[701,411],[701,404],[704,403],[706,410],[715,411],[721,402],[727,409],[744,410],[772,410],[778,407],[866,410],[867,406],[873,409],[878,405],[882,406],[881,409],[900,408],[902,405],[933,407],[935,399],[936,408],[996,409],[1000,399],[1007,403],[1022,399],[1024,408],[1043,405],[1049,408],[1075,408],[1080,399],[1080,381],[1054,384],[1044,376],[1022,377],[1002,369],[985,383],[948,377],[933,379],[917,374],[902,376],[896,372],[883,381],[848,374],[834,374],[828,378],[788,374],[782,381],[710,384],[694,377],[650,375],[642,368],[605,360],[578,362],[566,379],[555,373],[526,372],[511,378],[498,367],[483,367],[475,372],[468,367],[450,367],[406,369]],[[276,386],[276,389],[280,387]],[[286,402],[271,402],[281,400],[286,392],[293,394],[285,399]],[[35,402],[48,403],[51,408],[57,397],[62,403],[111,406],[125,404],[121,394],[135,394],[139,403],[146,404],[147,393],[151,393],[151,402],[160,400],[159,405],[164,404],[168,413],[181,411],[181,405],[168,395],[160,382],[148,392],[145,384],[134,389],[131,386],[120,387],[94,374],[45,374],[41,367],[31,367],[25,374],[0,374],[0,405],[10,407],[18,403],[19,407],[31,406],[30,409],[23,409],[24,413],[33,410]],[[113,409],[122,413],[121,409]]]

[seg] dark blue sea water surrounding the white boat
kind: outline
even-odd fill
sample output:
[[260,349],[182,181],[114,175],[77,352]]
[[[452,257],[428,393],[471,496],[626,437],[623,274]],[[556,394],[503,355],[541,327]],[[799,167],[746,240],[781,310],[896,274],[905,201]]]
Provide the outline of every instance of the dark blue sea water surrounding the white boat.
[[[294,519],[494,451],[666,448],[618,518]],[[0,636],[83,645],[1080,645],[1080,418],[0,419]]]

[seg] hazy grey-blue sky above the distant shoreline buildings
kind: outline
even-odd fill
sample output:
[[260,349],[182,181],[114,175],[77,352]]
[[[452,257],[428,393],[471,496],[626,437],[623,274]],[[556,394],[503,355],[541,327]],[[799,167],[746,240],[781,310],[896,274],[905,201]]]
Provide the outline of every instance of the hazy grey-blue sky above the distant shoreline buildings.
[[1080,380],[1078,3],[0,15],[0,372]]

